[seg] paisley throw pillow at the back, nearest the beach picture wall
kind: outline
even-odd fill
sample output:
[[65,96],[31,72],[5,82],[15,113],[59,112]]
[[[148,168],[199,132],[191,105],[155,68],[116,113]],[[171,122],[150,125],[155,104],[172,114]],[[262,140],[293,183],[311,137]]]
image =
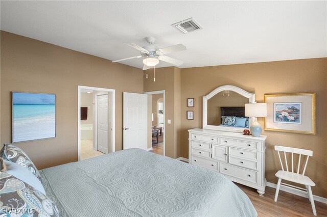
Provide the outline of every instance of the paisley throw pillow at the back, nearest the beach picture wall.
[[36,169],[35,165],[33,164],[32,160],[29,158],[29,156],[20,148],[11,144],[4,144],[4,147],[0,151],[0,156],[5,160],[26,167],[42,183],[42,179],[39,171]]

